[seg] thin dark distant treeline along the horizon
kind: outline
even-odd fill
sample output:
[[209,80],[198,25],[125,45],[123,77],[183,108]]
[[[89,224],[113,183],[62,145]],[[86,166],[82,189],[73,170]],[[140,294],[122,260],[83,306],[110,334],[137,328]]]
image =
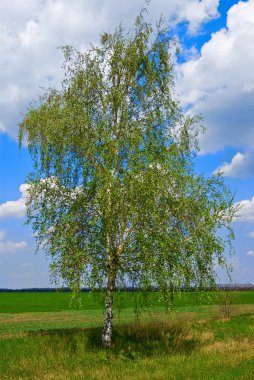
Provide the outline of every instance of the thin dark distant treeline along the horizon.
[[[221,289],[221,290],[238,290],[238,291],[241,291],[241,290],[254,290],[254,284],[219,284],[218,285],[218,288]],[[121,288],[121,289],[117,289],[118,291],[128,291],[128,292],[136,292],[136,291],[139,291],[140,289],[138,288],[133,288],[133,287],[127,287],[127,288]],[[202,290],[202,291],[211,291],[211,290],[214,290],[214,289],[210,289],[210,288],[207,288],[207,289],[199,289],[199,290]],[[90,288],[82,288],[81,289],[81,292],[90,292],[91,289]],[[153,291],[159,291],[159,289],[155,288],[153,289]],[[183,292],[195,292],[197,291],[196,288],[193,288],[193,287],[183,287],[182,290]],[[4,289],[4,288],[0,288],[0,293],[3,293],[3,292],[10,292],[10,293],[13,293],[13,292],[71,292],[71,289],[68,288],[68,287],[62,287],[62,288],[25,288],[25,289]]]

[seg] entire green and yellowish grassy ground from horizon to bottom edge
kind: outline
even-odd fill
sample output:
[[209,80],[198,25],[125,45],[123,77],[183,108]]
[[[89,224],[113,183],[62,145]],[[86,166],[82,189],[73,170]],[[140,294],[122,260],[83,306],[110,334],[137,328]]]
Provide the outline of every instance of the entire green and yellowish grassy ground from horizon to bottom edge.
[[183,293],[170,313],[158,293],[134,313],[140,296],[116,294],[105,350],[99,294],[0,293],[0,379],[254,379],[254,291]]

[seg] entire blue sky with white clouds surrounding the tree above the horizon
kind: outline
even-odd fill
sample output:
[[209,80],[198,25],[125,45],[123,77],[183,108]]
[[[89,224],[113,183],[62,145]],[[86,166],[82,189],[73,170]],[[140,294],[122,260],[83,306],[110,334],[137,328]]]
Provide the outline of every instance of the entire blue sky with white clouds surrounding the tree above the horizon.
[[[22,114],[41,87],[59,86],[60,45],[86,49],[120,21],[130,26],[143,1],[1,0],[0,2],[0,288],[50,286],[43,253],[35,255],[25,222],[25,179],[32,170],[18,149]],[[233,223],[232,280],[254,284],[254,0],[153,0],[181,46],[176,94],[204,116],[197,172],[224,172],[240,202]],[[221,281],[226,276],[218,271]]]

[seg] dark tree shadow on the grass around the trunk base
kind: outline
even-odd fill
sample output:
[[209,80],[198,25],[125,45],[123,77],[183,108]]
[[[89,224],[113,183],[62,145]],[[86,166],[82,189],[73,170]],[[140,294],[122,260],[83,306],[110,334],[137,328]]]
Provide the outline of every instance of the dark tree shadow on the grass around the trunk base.
[[[80,344],[86,351],[101,352],[101,328],[57,329],[31,332],[33,337],[45,337],[50,342],[61,342],[62,347],[75,352]],[[138,359],[168,353],[190,353],[199,345],[189,325],[183,322],[151,322],[116,325],[113,330],[112,347],[105,352],[122,359]]]

